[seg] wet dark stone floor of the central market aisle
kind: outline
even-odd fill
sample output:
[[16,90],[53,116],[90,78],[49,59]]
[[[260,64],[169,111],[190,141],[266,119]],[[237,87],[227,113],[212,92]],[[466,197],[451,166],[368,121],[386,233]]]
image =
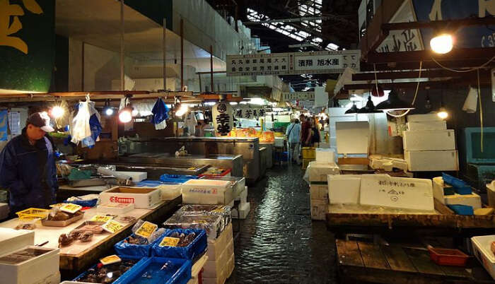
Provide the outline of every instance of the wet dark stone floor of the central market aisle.
[[311,220],[303,174],[297,165],[274,166],[249,188],[250,214],[233,221],[240,234],[226,283],[337,283],[334,236]]

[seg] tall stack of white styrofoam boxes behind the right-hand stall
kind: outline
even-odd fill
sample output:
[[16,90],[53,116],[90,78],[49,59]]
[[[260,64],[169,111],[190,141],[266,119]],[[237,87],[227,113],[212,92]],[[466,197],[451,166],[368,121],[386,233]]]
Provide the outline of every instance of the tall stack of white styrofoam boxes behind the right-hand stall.
[[459,170],[455,134],[443,120],[436,114],[414,114],[407,121],[402,141],[410,172]]

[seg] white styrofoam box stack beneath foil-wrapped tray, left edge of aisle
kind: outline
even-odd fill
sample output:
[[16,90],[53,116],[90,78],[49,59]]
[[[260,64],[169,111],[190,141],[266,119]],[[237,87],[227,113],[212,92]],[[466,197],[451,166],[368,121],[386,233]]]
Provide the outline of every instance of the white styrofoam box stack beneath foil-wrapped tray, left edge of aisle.
[[208,261],[204,265],[204,284],[223,284],[234,270],[234,239],[232,223],[216,239],[208,239],[206,252]]

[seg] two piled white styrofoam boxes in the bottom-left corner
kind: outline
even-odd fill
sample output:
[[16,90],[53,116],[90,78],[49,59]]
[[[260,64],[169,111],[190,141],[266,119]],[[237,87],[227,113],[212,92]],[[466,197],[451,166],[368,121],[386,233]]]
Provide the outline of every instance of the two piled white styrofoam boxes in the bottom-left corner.
[[[58,284],[60,283],[60,249],[34,247],[35,233],[27,230],[0,228],[0,283]],[[42,254],[12,261],[23,250],[43,251]],[[21,253],[25,254],[25,253]],[[12,256],[11,256],[12,255]],[[8,256],[11,256],[9,258]]]

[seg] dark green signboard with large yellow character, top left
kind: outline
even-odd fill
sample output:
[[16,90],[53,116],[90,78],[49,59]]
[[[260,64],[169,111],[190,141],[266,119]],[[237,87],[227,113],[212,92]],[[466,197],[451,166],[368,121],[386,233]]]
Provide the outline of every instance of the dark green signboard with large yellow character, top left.
[[54,39],[54,0],[0,0],[0,89],[47,92]]

